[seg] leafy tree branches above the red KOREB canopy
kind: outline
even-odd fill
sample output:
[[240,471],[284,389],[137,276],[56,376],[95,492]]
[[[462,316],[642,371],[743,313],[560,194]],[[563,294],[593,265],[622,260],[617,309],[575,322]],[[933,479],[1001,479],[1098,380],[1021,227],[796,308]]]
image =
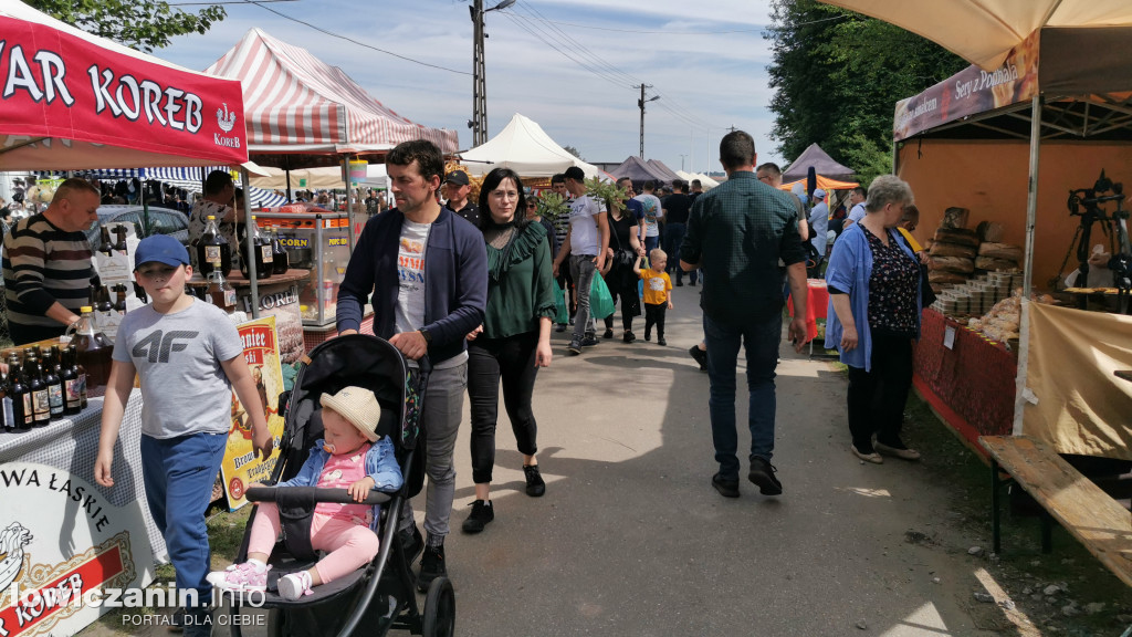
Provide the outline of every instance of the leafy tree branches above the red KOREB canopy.
[[171,37],[205,33],[228,15],[217,5],[182,11],[164,0],[25,0],[32,7],[87,33],[142,51],[169,45]]

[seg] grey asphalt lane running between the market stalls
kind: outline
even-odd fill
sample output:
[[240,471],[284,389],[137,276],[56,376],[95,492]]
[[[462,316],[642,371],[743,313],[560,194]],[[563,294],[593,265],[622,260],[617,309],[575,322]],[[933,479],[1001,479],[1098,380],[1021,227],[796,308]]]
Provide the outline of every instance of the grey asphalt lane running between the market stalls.
[[[457,634],[983,635],[964,611],[978,564],[955,546],[904,541],[909,529],[947,533],[946,485],[916,464],[850,456],[846,381],[827,363],[783,345],[783,495],[747,482],[737,500],[715,493],[707,376],[687,355],[698,288],[675,292],[666,348],[612,340],[567,357],[555,334],[535,399],[547,494],[523,492],[504,421],[496,519],[475,536],[458,532],[473,500],[462,432],[447,542]],[[748,442],[741,432],[740,449]]]

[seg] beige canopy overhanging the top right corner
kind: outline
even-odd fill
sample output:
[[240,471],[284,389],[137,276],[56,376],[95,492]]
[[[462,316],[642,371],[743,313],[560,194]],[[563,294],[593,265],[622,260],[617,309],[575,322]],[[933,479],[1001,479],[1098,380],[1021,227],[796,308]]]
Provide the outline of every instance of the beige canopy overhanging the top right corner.
[[[1089,28],[1132,23],[1127,0],[823,0],[923,35],[986,70],[1046,27]],[[1120,53],[1121,49],[1114,51]],[[1089,48],[1089,54],[1097,50]]]

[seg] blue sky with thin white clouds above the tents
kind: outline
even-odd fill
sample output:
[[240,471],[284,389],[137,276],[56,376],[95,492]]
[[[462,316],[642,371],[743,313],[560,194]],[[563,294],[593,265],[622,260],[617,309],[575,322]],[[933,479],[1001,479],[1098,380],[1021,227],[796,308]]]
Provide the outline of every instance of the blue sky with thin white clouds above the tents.
[[[172,3],[179,0],[172,0]],[[497,0],[486,0],[491,7]],[[332,37],[257,6],[228,5],[205,35],[185,35],[156,54],[204,69],[251,27],[341,67],[370,94],[420,124],[458,130],[471,146],[470,0],[298,0],[265,5],[323,29],[456,71],[434,69]],[[187,7],[191,8],[191,7]],[[770,23],[766,0],[518,0],[487,14],[489,137],[515,112],[538,121],[589,161],[619,162],[638,150],[640,91],[648,104],[645,156],[674,170],[720,170],[719,139],[752,134],[760,161],[786,163],[769,133]],[[571,60],[555,46],[586,65]],[[611,67],[611,68],[610,68]],[[466,75],[464,75],[466,74]],[[675,112],[674,112],[675,111]],[[681,158],[681,155],[684,155]]]

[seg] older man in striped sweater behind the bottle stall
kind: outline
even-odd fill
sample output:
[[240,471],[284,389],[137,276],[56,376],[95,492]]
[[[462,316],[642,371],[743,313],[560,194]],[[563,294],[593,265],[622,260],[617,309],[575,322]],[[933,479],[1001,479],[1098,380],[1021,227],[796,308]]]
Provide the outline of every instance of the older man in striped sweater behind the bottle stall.
[[20,219],[3,240],[8,329],[17,345],[61,336],[78,321],[91,292],[91,244],[83,232],[98,219],[98,189],[68,179],[51,205]]

